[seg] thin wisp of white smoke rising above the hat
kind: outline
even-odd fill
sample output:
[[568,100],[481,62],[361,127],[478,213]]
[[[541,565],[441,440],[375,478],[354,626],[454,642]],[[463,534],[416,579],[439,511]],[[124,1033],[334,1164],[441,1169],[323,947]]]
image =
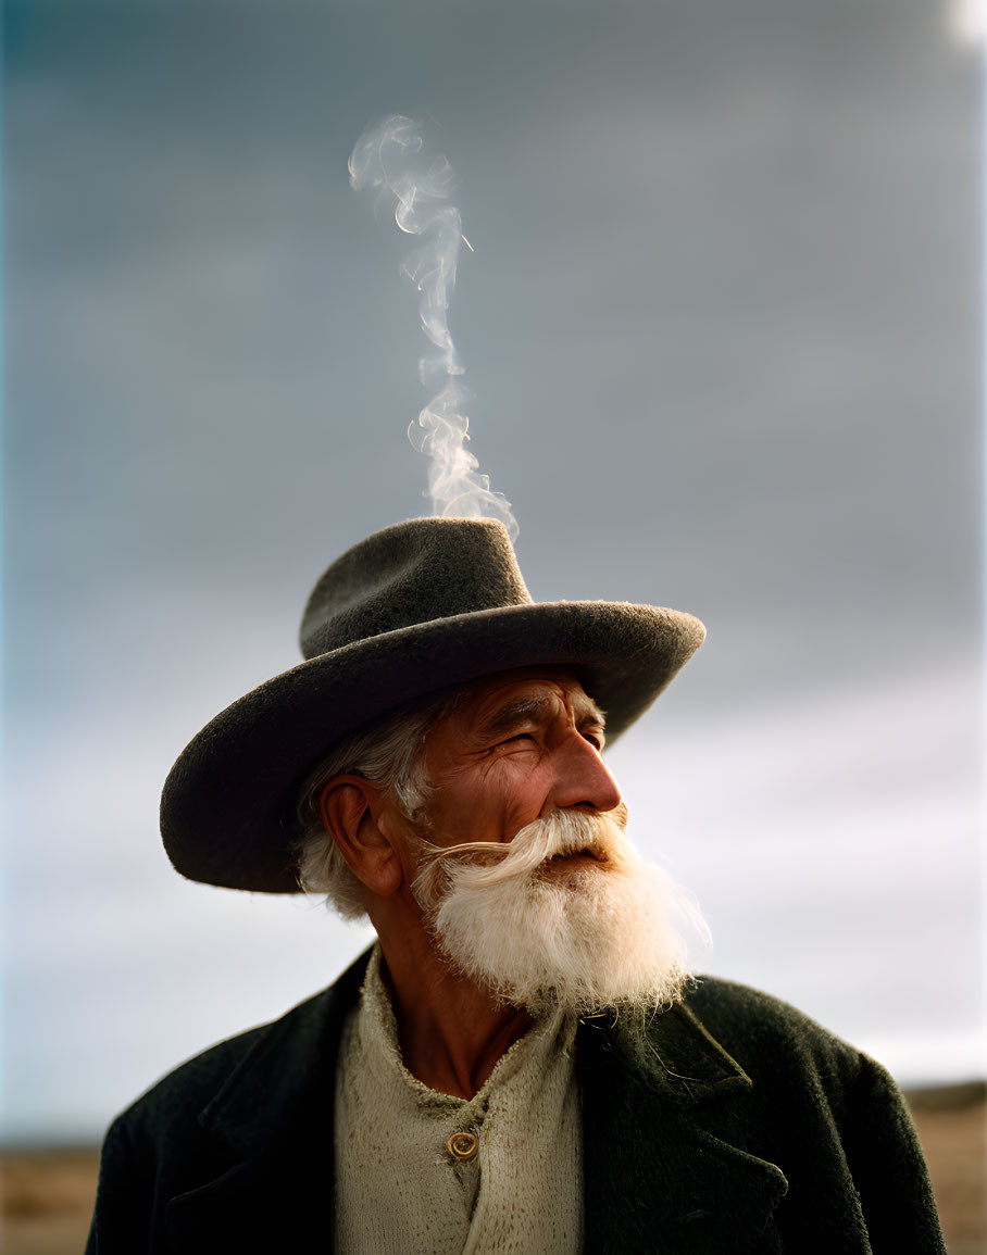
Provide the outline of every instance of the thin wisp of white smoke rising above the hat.
[[460,211],[448,198],[455,186],[452,167],[445,157],[429,158],[418,123],[399,115],[369,127],[357,141],[349,158],[349,181],[394,198],[394,221],[422,246],[404,259],[402,274],[421,292],[422,330],[436,353],[422,358],[418,374],[424,387],[438,388],[418,414],[418,441],[412,444],[431,458],[428,492],[436,515],[456,518],[500,518],[511,540],[517,522],[511,503],[480,474],[480,463],[466,449],[470,419],[463,413],[468,390],[462,384],[463,366],[448,328],[450,294],[456,284],[460,242],[472,250],[462,233]]

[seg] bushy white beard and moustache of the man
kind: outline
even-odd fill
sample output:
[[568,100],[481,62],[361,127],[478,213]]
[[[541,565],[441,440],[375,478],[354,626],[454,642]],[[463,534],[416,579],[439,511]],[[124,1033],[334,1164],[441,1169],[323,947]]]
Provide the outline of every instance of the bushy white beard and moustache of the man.
[[[555,811],[506,845],[422,842],[413,891],[453,968],[532,1015],[678,1000],[689,971],[676,916],[708,932],[687,894],[633,848],[625,814]],[[581,850],[599,861],[551,862]]]

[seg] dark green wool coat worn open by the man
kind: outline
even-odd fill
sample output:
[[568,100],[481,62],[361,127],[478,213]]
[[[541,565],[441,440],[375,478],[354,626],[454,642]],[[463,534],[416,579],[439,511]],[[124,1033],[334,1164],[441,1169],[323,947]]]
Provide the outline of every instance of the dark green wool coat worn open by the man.
[[[90,1255],[330,1249],[335,1057],[365,963],[116,1121]],[[601,1024],[576,1037],[588,1251],[944,1251],[914,1127],[871,1059],[720,980],[647,1037]]]

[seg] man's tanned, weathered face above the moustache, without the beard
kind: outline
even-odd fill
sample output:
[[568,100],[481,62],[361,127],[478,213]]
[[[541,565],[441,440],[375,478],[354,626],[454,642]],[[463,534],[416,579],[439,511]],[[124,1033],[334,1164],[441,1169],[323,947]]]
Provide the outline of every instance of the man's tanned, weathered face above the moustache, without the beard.
[[601,712],[565,670],[507,671],[470,689],[428,737],[429,840],[510,842],[553,811],[615,809],[603,740]]

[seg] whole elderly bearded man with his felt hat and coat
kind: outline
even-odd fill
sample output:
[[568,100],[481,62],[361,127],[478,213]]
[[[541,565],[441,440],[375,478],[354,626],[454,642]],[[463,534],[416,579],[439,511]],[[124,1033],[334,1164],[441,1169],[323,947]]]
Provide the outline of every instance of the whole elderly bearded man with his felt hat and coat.
[[299,886],[378,943],[111,1128],[90,1251],[942,1251],[870,1059],[693,979],[694,911],[625,835],[604,758],[703,638],[531,601],[486,521],[335,562],[306,661],[176,763],[186,876]]

